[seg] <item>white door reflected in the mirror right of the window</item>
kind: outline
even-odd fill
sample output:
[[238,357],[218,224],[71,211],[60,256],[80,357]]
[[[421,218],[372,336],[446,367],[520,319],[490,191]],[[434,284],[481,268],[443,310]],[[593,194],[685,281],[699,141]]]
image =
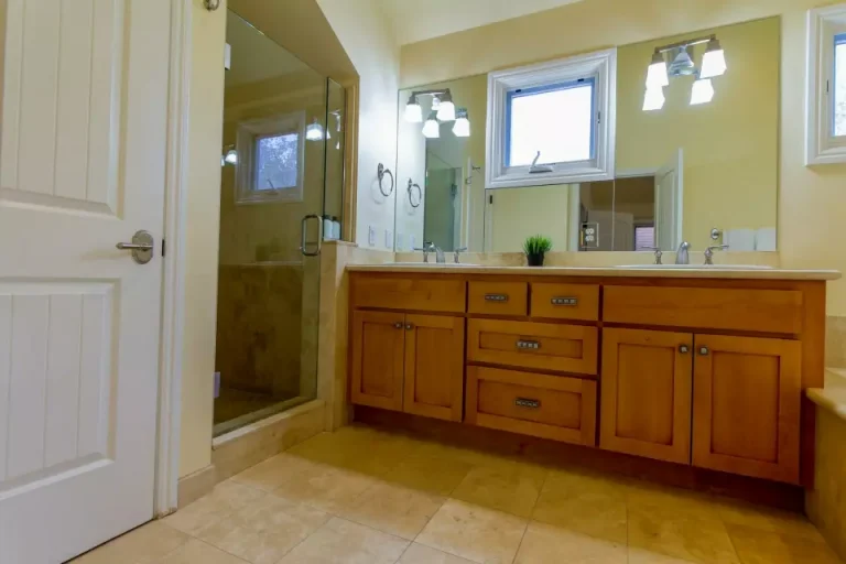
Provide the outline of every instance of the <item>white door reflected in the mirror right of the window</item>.
[[684,217],[684,150],[679,149],[655,173],[655,245],[675,251],[682,243]]

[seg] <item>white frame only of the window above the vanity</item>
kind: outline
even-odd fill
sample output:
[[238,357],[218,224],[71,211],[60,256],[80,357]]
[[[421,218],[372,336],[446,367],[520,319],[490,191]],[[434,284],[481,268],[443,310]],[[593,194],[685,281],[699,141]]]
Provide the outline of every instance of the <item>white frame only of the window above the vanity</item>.
[[[529,166],[506,166],[508,93],[514,88],[532,88],[594,79],[596,111],[595,158],[576,163],[552,165],[553,172],[531,174]],[[488,127],[486,188],[513,188],[597,182],[614,178],[617,134],[617,48],[562,58],[488,75]]]

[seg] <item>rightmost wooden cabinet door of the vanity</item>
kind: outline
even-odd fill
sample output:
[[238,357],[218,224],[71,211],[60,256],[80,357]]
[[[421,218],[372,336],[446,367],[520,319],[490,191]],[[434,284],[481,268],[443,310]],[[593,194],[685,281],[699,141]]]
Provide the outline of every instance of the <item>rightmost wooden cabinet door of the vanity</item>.
[[799,484],[802,348],[696,336],[693,464]]

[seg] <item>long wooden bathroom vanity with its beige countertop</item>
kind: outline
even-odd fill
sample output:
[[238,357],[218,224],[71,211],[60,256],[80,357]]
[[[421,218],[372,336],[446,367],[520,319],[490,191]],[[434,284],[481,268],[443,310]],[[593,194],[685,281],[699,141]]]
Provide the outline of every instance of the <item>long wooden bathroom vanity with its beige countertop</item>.
[[809,484],[831,271],[349,267],[350,401]]

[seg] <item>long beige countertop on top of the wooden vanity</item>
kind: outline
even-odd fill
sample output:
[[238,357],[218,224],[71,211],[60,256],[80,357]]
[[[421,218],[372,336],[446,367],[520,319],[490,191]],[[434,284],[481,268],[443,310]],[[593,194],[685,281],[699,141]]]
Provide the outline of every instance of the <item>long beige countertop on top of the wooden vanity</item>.
[[473,264],[348,264],[349,272],[397,272],[433,274],[510,274],[532,276],[604,276],[604,278],[666,278],[666,279],[727,279],[727,280],[839,280],[836,270],[742,269],[719,265],[655,269],[617,267],[486,267]]

